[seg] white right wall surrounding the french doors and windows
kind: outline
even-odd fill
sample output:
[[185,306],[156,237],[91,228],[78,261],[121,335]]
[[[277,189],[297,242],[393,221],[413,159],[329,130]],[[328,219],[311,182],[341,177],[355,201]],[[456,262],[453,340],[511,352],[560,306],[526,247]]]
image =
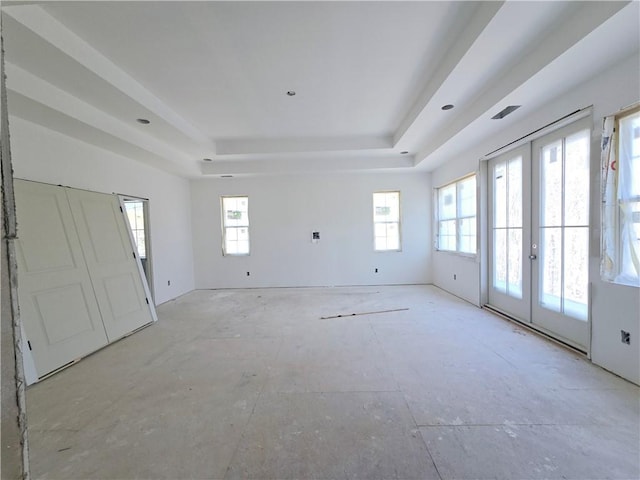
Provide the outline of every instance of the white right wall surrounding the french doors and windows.
[[[465,154],[451,159],[433,172],[434,187],[478,168],[487,152],[522,137],[577,109],[593,105],[591,247],[592,348],[594,363],[635,383],[640,383],[640,290],[600,280],[600,137],[602,118],[640,100],[640,57],[636,53],[606,72],[567,92],[525,120],[505,127],[501,134],[485,139]],[[526,106],[525,106],[526,108]],[[485,215],[486,212],[481,212]],[[455,271],[464,271],[454,282]],[[460,279],[460,276],[458,276]],[[433,253],[433,282],[474,304],[480,301],[480,265],[466,258]],[[631,345],[620,341],[620,330],[631,333]]]

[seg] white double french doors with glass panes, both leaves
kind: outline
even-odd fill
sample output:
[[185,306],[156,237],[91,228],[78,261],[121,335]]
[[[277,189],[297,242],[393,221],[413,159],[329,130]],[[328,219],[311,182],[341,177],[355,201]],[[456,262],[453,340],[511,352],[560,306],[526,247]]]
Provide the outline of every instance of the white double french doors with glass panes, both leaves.
[[582,350],[589,341],[590,122],[489,161],[489,305]]

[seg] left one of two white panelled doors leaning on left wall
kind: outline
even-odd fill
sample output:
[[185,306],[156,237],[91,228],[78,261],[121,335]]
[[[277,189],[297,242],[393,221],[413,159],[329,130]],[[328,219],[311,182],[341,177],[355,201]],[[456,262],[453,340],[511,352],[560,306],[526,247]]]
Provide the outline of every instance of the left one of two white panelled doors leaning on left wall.
[[15,181],[20,313],[39,377],[108,343],[64,189]]

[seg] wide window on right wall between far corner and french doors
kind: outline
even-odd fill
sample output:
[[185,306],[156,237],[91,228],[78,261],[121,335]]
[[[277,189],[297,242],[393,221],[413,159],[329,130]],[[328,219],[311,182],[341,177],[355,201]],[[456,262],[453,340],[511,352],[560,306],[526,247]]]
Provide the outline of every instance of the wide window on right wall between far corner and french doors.
[[476,176],[438,189],[438,250],[476,253]]

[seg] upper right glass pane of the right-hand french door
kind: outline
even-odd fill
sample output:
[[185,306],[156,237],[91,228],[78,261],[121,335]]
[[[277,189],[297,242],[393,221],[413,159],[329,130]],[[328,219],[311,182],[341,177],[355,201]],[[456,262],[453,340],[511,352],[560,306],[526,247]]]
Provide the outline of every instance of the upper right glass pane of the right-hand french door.
[[589,225],[589,142],[589,130],[565,142],[565,225]]

